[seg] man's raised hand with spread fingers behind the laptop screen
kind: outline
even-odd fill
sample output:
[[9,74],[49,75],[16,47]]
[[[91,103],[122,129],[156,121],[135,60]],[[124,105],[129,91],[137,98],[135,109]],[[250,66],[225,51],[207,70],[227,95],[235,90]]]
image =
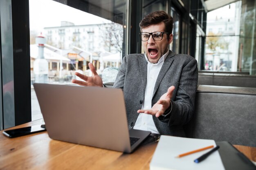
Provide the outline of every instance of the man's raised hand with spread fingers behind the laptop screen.
[[84,81],[72,79],[71,82],[78,84],[80,86],[99,86],[103,87],[103,82],[101,77],[99,77],[98,73],[96,72],[95,67],[93,66],[92,63],[89,63],[89,68],[90,71],[92,72],[92,77],[88,77],[86,75],[80,74],[80,73],[75,73],[76,76],[80,77]]

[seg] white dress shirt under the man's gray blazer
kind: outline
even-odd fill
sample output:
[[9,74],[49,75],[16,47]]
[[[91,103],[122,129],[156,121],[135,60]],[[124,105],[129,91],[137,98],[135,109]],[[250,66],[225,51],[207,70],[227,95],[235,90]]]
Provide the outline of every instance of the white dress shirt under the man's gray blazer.
[[[148,61],[148,58],[145,53],[145,58],[146,58],[146,61],[148,62],[147,84],[146,84],[146,91],[144,96],[144,103],[141,109],[151,109],[151,101],[153,97],[155,82],[157,81],[158,74],[162,68],[162,65],[164,64],[164,60],[166,59],[168,53],[169,53],[169,50],[155,64],[150,63]],[[155,127],[155,123],[153,121],[152,115],[148,115],[145,113],[139,113],[139,116],[133,128],[139,129],[139,130],[148,130],[148,131],[151,131],[152,133],[159,134],[159,132],[157,131],[157,128]]]

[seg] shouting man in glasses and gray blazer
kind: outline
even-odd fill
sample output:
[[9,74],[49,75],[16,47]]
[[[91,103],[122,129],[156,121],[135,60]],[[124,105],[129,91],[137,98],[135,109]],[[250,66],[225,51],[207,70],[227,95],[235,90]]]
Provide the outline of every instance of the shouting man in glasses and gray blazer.
[[[182,126],[192,117],[198,82],[197,61],[168,50],[173,40],[173,18],[156,11],[141,20],[140,38],[145,54],[123,58],[114,88],[122,88],[129,128],[185,137]],[[76,73],[82,86],[103,83],[94,66],[92,77]]]

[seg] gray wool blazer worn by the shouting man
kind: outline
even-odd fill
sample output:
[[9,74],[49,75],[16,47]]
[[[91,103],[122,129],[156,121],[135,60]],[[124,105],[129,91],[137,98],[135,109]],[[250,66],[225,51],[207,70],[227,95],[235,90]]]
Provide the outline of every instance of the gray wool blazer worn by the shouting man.
[[[137,110],[144,102],[147,83],[147,62],[144,54],[130,54],[123,58],[114,88],[122,88],[126,103],[128,126],[132,128],[137,120]],[[185,137],[182,126],[189,122],[195,105],[198,83],[198,66],[190,55],[169,51],[159,72],[153,91],[152,106],[175,86],[172,97],[172,111],[168,116],[153,116],[153,121],[161,135]]]

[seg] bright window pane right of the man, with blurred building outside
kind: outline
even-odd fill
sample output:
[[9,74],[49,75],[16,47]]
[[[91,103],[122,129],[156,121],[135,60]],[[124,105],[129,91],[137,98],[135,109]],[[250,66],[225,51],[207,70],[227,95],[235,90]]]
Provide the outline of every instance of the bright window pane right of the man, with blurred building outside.
[[237,71],[240,10],[238,1],[207,13],[204,69]]

